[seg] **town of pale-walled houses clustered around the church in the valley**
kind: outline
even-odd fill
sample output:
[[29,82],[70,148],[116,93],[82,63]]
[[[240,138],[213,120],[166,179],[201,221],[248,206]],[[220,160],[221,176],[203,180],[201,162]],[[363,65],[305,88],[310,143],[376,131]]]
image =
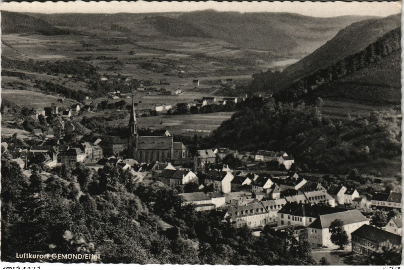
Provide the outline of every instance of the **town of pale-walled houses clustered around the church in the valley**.
[[[204,106],[207,101],[197,102]],[[231,102],[237,102],[237,98]],[[251,228],[251,237],[259,236],[263,230],[275,233],[291,228],[297,240],[305,235],[315,249],[348,248],[364,255],[371,255],[385,243],[400,245],[400,191],[364,195],[344,184],[319,181],[327,177],[324,175],[305,177],[294,158],[284,151],[238,152],[217,147],[198,149],[192,156],[187,146],[174,141],[168,130],[139,135],[139,114],[133,100],[129,107],[127,136],[90,136],[89,140],[85,140],[85,129],[69,119],[88,106],[33,110],[28,117],[37,122],[45,120],[48,128],[33,129],[32,136],[42,143],[23,149],[17,147],[22,139],[15,134],[7,139],[10,143],[2,142],[2,155],[9,155],[26,176],[39,171],[44,179],[57,168],[76,163],[93,172],[106,166],[117,167],[130,172],[137,183],[161,182],[177,190],[183,205],[193,205],[195,211],[217,211],[223,222],[228,221],[235,228]],[[52,119],[50,123],[48,118]],[[67,134],[75,134],[76,140],[67,143],[63,140]],[[273,171],[249,170],[259,163],[267,163]],[[232,167],[234,164],[238,166]],[[381,185],[380,179],[372,180]],[[340,231],[334,233],[333,228]],[[344,236],[343,241],[334,240]]]

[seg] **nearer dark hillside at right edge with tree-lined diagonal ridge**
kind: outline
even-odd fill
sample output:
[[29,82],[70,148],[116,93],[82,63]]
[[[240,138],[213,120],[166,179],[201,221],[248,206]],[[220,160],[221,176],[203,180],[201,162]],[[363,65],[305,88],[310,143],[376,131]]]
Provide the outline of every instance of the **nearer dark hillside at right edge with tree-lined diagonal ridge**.
[[292,102],[316,96],[333,96],[375,103],[401,102],[401,29],[396,28],[364,50],[295,82],[275,94]]

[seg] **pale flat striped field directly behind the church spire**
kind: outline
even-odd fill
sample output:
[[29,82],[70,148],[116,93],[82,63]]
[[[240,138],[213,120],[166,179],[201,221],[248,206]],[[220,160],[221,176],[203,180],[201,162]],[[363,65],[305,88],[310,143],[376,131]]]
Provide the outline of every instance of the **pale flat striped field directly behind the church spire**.
[[[151,130],[167,129],[172,134],[194,134],[204,132],[206,134],[217,129],[220,124],[229,119],[233,112],[206,113],[195,115],[159,115],[154,117],[138,117],[139,128]],[[111,125],[127,125],[129,117],[122,120],[110,121]]]

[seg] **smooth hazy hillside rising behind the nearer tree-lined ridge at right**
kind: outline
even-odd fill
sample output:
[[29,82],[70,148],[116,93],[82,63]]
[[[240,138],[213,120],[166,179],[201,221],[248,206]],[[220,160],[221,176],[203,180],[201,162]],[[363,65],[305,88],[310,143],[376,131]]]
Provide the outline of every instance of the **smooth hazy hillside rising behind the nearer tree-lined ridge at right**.
[[267,71],[254,75],[254,87],[272,92],[288,88],[300,78],[360,52],[385,33],[400,27],[400,20],[401,15],[397,14],[382,19],[368,19],[353,23],[339,31],[334,38],[313,53],[287,67],[283,72]]

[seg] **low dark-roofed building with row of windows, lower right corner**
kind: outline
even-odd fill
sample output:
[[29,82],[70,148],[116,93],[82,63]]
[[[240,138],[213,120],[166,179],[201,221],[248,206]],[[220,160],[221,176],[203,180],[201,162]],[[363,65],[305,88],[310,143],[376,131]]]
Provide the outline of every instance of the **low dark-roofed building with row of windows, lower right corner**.
[[373,252],[386,243],[402,246],[401,236],[387,232],[368,224],[360,226],[351,233],[352,252],[371,255]]

